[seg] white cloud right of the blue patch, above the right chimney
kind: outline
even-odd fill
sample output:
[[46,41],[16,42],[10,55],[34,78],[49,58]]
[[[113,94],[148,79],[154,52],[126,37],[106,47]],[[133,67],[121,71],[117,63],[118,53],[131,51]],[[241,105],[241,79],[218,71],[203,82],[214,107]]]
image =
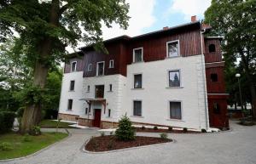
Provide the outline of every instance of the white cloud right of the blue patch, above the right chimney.
[[202,17],[211,0],[172,0],[170,12],[184,14],[184,19],[189,20],[192,15]]

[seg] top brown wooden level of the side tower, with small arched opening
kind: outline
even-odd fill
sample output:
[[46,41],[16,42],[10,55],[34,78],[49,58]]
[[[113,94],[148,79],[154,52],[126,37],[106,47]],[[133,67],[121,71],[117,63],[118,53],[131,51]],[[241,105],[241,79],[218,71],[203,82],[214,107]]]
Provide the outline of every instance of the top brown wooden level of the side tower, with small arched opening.
[[[214,53],[209,52],[209,45],[214,44],[216,51]],[[205,60],[206,63],[222,61],[220,41],[217,38],[205,39]]]

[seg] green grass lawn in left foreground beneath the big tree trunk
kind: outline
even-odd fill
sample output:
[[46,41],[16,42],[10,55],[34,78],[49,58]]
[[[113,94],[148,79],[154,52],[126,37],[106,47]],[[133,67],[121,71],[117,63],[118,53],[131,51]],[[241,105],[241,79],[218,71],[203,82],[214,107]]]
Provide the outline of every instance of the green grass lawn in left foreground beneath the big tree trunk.
[[42,133],[42,135],[39,136],[26,137],[19,133],[6,133],[0,135],[0,144],[9,143],[11,147],[10,150],[0,150],[0,160],[30,155],[38,150],[42,150],[49,144],[54,144],[55,142],[66,138],[67,135],[67,133]]

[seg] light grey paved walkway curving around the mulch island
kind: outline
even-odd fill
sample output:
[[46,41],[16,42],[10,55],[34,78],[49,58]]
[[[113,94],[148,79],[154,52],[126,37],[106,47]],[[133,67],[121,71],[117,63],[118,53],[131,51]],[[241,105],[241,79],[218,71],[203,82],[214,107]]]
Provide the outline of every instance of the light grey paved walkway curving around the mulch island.
[[[26,164],[255,164],[256,126],[241,127],[224,133],[169,134],[175,143],[103,154],[86,154],[80,150],[95,130],[70,129],[73,136],[36,156],[5,163]],[[139,133],[143,135],[143,133]],[[158,136],[155,133],[147,133]]]

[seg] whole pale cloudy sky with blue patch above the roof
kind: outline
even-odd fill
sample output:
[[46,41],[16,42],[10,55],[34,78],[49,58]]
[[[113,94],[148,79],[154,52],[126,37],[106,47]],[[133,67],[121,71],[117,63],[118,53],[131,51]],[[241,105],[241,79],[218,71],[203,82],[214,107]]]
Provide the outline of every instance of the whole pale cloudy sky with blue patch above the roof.
[[[130,3],[129,27],[126,31],[113,24],[108,29],[102,26],[103,39],[128,35],[134,37],[151,31],[158,31],[164,26],[181,25],[190,22],[192,15],[203,19],[205,10],[210,6],[211,0],[126,0]],[[83,43],[79,43],[82,47]],[[73,51],[68,48],[68,51]]]

